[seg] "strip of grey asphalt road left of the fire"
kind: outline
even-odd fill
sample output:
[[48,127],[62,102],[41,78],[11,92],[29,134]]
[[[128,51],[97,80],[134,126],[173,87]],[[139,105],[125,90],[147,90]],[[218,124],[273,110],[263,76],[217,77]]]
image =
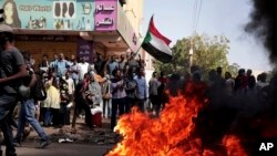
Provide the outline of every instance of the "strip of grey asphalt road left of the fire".
[[[39,144],[25,143],[17,147],[18,156],[103,156],[112,146],[85,144],[52,143],[44,149],[37,148]],[[4,149],[3,149],[4,152]]]

